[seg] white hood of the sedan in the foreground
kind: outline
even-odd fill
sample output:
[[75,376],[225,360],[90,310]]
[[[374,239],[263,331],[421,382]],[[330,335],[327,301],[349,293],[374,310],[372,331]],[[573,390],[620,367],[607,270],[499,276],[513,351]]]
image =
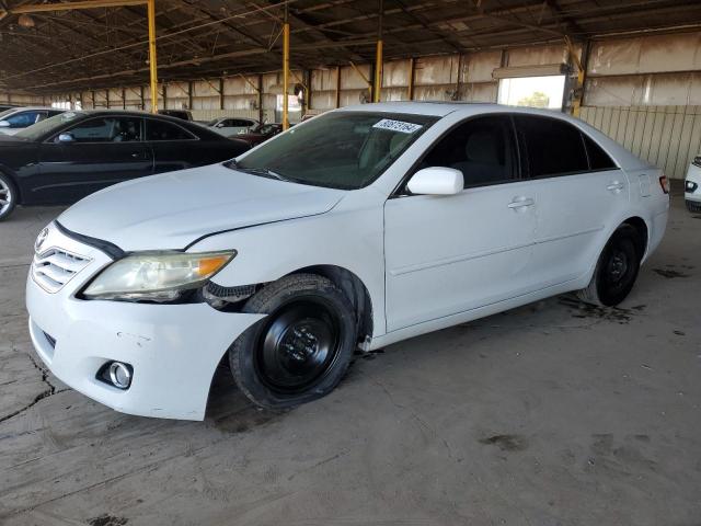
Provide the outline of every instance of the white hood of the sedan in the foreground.
[[324,214],[344,194],[212,164],[111,186],[58,221],[125,251],[184,249],[210,233]]

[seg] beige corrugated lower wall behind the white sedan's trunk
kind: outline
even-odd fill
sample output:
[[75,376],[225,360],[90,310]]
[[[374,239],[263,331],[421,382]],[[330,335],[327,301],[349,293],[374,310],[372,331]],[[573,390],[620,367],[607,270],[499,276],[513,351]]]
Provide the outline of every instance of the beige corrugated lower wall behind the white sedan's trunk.
[[701,106],[585,106],[581,117],[671,179],[701,153]]

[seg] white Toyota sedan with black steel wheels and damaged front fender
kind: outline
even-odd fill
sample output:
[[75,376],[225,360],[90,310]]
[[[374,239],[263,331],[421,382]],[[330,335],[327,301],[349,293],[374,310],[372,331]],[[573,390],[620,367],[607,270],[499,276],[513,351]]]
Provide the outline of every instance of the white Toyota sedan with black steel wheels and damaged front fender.
[[612,306],[658,245],[664,174],[547,111],[382,103],[235,160],[93,194],[36,240],[34,346],[117,411],[203,419],[227,359],[264,408],[356,348],[578,290]]

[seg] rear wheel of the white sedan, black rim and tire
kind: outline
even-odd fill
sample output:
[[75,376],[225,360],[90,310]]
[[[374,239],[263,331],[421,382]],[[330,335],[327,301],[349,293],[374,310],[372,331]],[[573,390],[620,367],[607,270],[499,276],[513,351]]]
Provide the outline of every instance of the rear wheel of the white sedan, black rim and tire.
[[578,290],[577,297],[604,307],[623,301],[637,278],[643,256],[640,245],[637,230],[630,225],[621,225],[601,251],[589,285]]

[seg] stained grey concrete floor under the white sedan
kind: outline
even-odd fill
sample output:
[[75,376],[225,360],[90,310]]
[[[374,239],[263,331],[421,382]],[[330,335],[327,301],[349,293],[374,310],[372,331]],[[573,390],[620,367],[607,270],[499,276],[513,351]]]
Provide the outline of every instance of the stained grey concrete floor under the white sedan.
[[358,358],[330,397],[205,422],[118,414],[30,343],[24,278],[59,209],[0,224],[0,524],[699,525],[701,216],[619,309],[552,298]]

